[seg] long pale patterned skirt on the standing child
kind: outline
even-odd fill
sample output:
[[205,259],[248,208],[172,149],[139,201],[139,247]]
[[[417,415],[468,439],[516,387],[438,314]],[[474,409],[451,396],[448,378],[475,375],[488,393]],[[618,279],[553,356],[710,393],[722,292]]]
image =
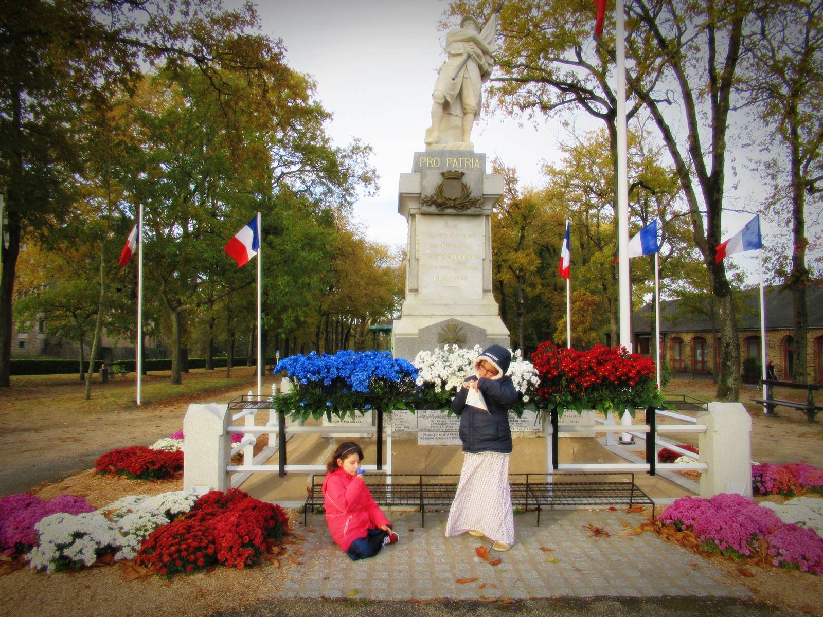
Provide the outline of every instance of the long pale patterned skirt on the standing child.
[[508,454],[463,453],[463,469],[449,508],[446,537],[469,530],[482,531],[490,540],[514,544]]

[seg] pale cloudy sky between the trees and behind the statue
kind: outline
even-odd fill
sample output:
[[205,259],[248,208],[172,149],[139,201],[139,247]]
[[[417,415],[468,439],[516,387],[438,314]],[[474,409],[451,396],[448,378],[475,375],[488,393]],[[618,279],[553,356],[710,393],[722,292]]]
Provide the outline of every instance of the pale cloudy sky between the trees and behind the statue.
[[[257,5],[263,34],[282,39],[289,66],[316,81],[317,98],[333,114],[328,124],[332,139],[345,146],[358,137],[374,148],[371,163],[379,174],[379,193],[362,197],[354,216],[369,239],[393,246],[407,242],[407,223],[398,214],[399,175],[412,170],[416,151],[425,150],[431,90],[445,58],[445,34],[437,24],[447,6],[443,0],[272,0]],[[600,128],[583,111],[574,123],[583,130]],[[542,165],[560,161],[558,140],[564,134],[558,119],[541,118],[536,124],[497,113],[478,119],[472,141],[490,163],[499,157],[516,167],[521,186],[539,186]],[[751,219],[763,193],[761,183],[746,173],[745,158],[737,156],[736,177],[728,174],[729,185],[737,183],[737,188],[726,200],[724,238]],[[786,233],[766,220],[761,220],[761,230],[765,243]],[[728,257],[749,273],[750,282],[757,281],[751,281],[756,253]]]

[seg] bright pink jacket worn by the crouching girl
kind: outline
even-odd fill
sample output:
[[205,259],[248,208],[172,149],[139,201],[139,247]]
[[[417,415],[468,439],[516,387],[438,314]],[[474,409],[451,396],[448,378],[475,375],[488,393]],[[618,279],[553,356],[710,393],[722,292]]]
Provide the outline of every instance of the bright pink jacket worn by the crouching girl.
[[391,525],[371,497],[365,482],[338,468],[323,480],[323,508],[332,539],[342,550],[364,538],[372,527]]

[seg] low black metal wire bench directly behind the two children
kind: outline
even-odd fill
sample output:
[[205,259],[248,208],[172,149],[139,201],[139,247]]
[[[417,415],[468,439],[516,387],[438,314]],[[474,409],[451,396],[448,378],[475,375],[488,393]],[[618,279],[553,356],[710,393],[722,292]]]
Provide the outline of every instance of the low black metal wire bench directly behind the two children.
[[[596,476],[625,476],[625,480],[591,480]],[[303,522],[323,508],[323,479],[312,476],[304,503]],[[388,480],[388,481],[387,481]],[[458,487],[459,474],[367,474],[364,477],[374,501],[381,507],[406,507],[420,510],[421,526],[425,511],[449,508]],[[551,481],[547,481],[551,480]],[[524,512],[537,512],[537,526],[543,508],[555,506],[628,506],[654,502],[635,485],[634,474],[564,473],[510,474],[512,504]]]

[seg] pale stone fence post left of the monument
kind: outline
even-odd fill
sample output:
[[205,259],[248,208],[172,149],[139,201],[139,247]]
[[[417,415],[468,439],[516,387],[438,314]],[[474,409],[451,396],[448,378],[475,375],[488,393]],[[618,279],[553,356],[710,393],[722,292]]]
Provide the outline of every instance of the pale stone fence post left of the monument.
[[183,459],[183,489],[202,493],[230,487],[226,471],[231,458],[229,406],[189,405],[183,419],[186,436]]

